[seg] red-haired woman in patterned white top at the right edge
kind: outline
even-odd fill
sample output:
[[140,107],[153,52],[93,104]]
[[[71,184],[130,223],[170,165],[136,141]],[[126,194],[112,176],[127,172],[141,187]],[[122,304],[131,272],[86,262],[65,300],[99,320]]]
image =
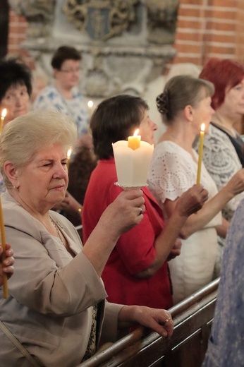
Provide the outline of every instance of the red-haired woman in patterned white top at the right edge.
[[[215,113],[208,133],[205,134],[202,159],[209,174],[220,190],[236,172],[244,167],[243,140],[233,128],[244,114],[244,66],[238,61],[212,58],[202,68],[200,78],[214,84],[212,107]],[[199,148],[199,138],[194,148]],[[244,194],[230,200],[222,214],[226,227]],[[219,276],[224,239],[219,237],[219,251],[215,272]]]

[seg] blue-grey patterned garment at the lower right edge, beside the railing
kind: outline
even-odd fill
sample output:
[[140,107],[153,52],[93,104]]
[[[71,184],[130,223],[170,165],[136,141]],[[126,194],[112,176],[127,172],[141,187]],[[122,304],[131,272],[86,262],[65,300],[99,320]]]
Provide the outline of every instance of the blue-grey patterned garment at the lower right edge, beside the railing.
[[244,366],[244,200],[226,237],[214,321],[203,367]]

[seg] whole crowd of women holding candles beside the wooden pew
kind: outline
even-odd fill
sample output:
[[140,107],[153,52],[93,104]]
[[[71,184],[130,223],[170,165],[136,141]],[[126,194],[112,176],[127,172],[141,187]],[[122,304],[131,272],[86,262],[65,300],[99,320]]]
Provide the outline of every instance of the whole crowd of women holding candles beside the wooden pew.
[[0,61],[8,242],[0,261],[1,363],[74,367],[138,325],[169,338],[169,308],[221,275],[204,366],[238,366],[243,333],[232,316],[243,318],[244,150],[234,126],[244,114],[244,66],[213,58],[199,77],[169,78],[155,101],[165,129],[147,186],[124,190],[114,184],[112,144],[139,129],[152,145],[157,124],[132,95],[103,100],[89,121],[80,63],[80,52],[59,47],[54,82],[30,106],[30,68]]

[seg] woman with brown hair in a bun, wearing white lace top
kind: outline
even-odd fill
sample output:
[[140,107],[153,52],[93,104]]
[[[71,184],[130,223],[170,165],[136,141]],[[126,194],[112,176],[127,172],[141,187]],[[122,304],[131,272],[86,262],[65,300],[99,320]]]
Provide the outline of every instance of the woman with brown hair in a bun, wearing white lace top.
[[[202,123],[206,131],[214,110],[212,83],[191,76],[176,76],[166,83],[157,97],[157,106],[166,124],[159,138],[150,168],[150,191],[168,218],[173,214],[181,194],[197,178],[198,155],[192,145]],[[221,210],[244,189],[244,170],[240,169],[218,193],[216,184],[202,164],[201,183],[209,200],[197,215],[190,215],[181,229],[184,239],[181,255],[171,260],[173,301],[177,303],[208,284],[213,277],[217,233],[226,236],[228,222]]]

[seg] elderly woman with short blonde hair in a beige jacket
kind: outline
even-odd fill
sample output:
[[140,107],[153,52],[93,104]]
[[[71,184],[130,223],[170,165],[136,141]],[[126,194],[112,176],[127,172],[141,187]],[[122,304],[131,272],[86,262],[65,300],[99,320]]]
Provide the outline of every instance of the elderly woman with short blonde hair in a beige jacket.
[[1,366],[77,366],[119,329],[140,323],[165,337],[173,331],[167,311],[104,301],[100,276],[119,236],[143,219],[142,191],[121,193],[85,248],[73,225],[51,210],[66,193],[66,153],[75,140],[75,125],[50,111],[20,116],[1,134],[1,201],[16,266],[8,299],[0,290],[0,315],[18,339],[0,330]]

